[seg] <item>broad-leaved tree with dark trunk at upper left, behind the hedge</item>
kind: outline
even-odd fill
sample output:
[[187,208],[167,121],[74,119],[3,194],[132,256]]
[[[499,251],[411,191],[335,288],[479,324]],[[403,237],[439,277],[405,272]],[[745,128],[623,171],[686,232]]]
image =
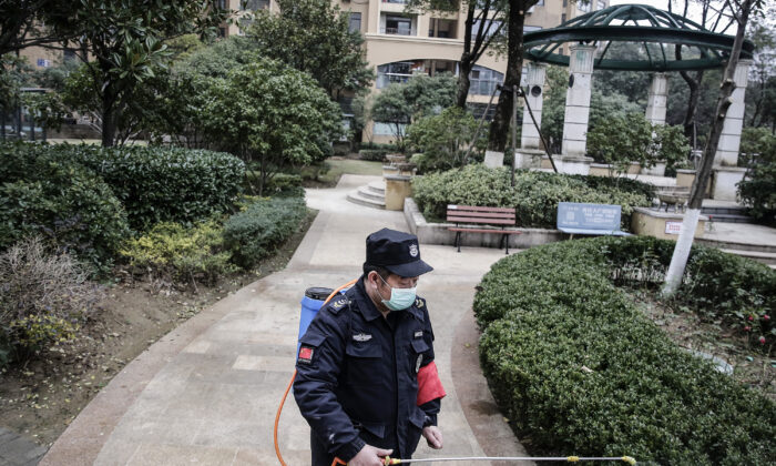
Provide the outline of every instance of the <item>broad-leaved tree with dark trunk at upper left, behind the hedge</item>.
[[215,0],[79,0],[62,34],[78,37],[81,59],[90,63],[94,95],[102,119],[102,144],[115,144],[116,119],[133,94],[159,69],[169,53],[163,40],[185,33],[215,36],[226,10]]

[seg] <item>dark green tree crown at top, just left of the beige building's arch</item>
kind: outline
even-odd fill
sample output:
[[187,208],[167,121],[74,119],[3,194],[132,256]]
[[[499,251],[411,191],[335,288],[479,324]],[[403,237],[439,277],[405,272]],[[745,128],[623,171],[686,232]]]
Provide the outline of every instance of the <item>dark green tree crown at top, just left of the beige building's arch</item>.
[[256,11],[248,30],[262,54],[312,74],[335,100],[340,91],[369,88],[375,73],[349,14],[328,0],[276,1],[279,13]]

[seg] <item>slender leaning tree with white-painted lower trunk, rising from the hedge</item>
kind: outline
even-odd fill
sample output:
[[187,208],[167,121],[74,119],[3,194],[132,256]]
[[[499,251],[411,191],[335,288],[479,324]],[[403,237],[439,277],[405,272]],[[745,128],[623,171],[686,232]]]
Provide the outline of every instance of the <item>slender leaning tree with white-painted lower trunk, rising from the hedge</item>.
[[719,98],[717,100],[716,112],[714,113],[714,122],[706,141],[706,146],[703,152],[703,159],[701,163],[701,169],[698,170],[693,186],[690,191],[690,203],[687,212],[684,214],[684,220],[682,221],[682,231],[676,241],[676,246],[674,247],[674,254],[671,257],[671,265],[668,266],[668,272],[665,276],[665,284],[663,285],[664,295],[673,295],[678,285],[682,283],[682,276],[684,275],[684,269],[687,265],[687,257],[690,256],[690,250],[693,245],[693,237],[695,236],[695,229],[697,227],[698,217],[701,216],[701,207],[703,204],[704,193],[706,192],[706,185],[712,173],[712,165],[714,164],[714,155],[719,145],[719,136],[722,135],[722,130],[725,123],[725,115],[727,115],[727,110],[733,103],[733,91],[735,90],[735,71],[738,65],[738,60],[741,59],[741,50],[744,44],[744,34],[746,31],[746,26],[749,21],[749,16],[760,11],[763,9],[765,0],[727,0],[728,4],[734,7],[734,18],[737,24],[735,40],[733,41],[733,48],[731,50],[729,58],[727,59],[727,64],[725,67],[725,73],[723,74],[722,84],[719,87]]

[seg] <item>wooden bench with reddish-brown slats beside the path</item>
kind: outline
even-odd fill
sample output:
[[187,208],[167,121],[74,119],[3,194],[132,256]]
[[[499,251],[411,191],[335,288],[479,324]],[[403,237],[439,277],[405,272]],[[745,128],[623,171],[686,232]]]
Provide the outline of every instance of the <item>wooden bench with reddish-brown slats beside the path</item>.
[[[461,252],[461,233],[501,233],[501,245],[509,254],[509,235],[522,232],[504,230],[503,226],[514,226],[514,209],[509,207],[478,207],[474,205],[448,205],[447,221],[455,223],[448,231],[456,232],[456,247]],[[477,225],[499,225],[501,229],[478,229]]]

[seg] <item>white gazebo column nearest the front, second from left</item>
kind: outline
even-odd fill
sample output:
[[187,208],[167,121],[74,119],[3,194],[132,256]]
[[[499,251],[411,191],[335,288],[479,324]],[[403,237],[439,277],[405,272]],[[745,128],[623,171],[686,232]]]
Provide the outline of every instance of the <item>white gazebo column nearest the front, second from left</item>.
[[585,154],[590,92],[593,78],[595,45],[571,45],[569,59],[569,90],[565,93],[563,119],[563,155]]

